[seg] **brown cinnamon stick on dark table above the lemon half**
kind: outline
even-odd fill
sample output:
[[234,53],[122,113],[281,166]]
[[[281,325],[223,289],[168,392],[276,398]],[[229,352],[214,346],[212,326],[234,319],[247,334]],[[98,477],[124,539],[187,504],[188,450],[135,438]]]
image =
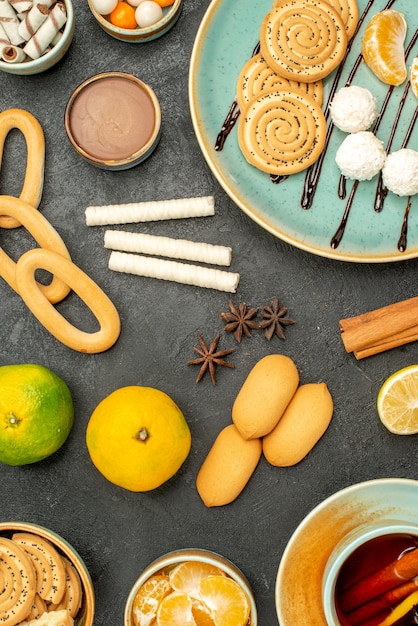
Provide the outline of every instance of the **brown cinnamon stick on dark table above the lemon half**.
[[418,297],[340,320],[341,338],[347,352],[357,359],[418,339]]

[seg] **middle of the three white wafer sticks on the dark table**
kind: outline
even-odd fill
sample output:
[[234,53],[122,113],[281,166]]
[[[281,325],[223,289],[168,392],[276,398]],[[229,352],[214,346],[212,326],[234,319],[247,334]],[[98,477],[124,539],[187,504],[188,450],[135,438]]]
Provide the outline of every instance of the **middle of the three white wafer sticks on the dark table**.
[[212,265],[231,265],[231,248],[200,241],[107,230],[104,236],[104,245],[105,248],[111,250],[141,252],[142,254],[200,261]]

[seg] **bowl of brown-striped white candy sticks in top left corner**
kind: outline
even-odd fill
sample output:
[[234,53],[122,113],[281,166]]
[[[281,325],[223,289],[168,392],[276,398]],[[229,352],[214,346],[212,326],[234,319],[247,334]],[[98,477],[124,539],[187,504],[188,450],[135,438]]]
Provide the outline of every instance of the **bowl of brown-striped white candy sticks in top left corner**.
[[71,0],[41,4],[3,0],[1,4],[1,71],[22,76],[40,74],[63,58],[74,37]]

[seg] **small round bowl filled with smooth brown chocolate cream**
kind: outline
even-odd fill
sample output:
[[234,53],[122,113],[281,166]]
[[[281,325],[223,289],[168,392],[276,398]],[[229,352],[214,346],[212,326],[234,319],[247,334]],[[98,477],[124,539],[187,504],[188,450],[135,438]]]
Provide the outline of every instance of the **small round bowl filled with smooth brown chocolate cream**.
[[125,72],[104,72],[72,93],[64,114],[67,137],[80,156],[105,170],[148,158],[161,134],[161,109],[151,87]]

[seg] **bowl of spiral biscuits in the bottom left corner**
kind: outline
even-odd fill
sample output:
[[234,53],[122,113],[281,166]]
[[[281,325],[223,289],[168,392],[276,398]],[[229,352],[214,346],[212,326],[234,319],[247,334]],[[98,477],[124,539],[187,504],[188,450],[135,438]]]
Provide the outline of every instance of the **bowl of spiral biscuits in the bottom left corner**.
[[90,574],[74,548],[42,526],[0,523],[0,618],[9,626],[92,626]]

